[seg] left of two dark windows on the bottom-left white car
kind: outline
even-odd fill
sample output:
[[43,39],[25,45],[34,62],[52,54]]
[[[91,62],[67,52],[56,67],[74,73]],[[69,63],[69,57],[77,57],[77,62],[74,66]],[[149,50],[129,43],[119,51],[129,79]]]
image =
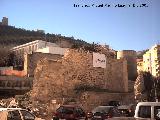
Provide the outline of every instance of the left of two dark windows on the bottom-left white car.
[[9,111],[7,120],[22,120],[18,110]]

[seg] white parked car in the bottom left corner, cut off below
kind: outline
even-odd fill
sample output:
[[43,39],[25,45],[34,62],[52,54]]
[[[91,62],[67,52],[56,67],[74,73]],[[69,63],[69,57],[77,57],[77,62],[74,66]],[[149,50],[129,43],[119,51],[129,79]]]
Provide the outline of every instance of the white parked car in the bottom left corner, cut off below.
[[0,120],[42,120],[29,111],[21,108],[9,108],[0,111]]

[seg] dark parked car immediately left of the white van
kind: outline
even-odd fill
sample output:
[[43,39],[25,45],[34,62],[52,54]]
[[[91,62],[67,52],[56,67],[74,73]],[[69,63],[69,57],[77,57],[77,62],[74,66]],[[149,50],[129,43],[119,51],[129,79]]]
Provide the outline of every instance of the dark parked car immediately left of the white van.
[[120,111],[121,116],[133,117],[134,111],[135,111],[135,105],[134,104],[121,105],[121,106],[118,106],[118,110]]

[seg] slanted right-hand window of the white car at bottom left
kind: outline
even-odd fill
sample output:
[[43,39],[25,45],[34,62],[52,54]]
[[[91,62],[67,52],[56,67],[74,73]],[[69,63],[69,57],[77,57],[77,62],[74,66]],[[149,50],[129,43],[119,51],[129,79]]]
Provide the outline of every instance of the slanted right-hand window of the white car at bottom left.
[[34,120],[35,116],[31,114],[29,111],[21,110],[22,116],[24,120]]

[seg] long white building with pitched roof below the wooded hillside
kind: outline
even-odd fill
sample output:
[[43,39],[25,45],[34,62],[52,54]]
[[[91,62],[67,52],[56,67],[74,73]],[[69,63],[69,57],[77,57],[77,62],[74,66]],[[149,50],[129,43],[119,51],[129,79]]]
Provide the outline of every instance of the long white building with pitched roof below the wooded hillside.
[[13,53],[16,56],[14,59],[14,66],[17,69],[23,69],[24,55],[26,54],[40,52],[40,53],[64,55],[65,50],[66,48],[61,48],[55,43],[42,41],[42,40],[35,40],[23,45],[13,47],[11,49],[11,51],[13,51]]

